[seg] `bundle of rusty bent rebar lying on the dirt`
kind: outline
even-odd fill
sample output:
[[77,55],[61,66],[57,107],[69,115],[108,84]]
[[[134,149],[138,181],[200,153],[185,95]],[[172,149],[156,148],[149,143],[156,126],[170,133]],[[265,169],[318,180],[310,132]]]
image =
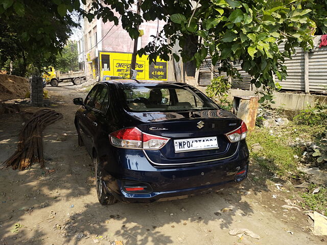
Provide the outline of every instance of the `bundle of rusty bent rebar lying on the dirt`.
[[42,131],[62,118],[62,114],[50,109],[35,112],[19,133],[17,151],[3,164],[24,170],[35,162],[44,167]]

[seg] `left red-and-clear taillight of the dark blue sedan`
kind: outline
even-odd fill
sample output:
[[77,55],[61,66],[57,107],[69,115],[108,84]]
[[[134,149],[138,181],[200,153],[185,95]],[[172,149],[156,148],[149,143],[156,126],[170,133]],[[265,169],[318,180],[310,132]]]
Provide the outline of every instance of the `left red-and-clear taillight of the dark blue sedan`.
[[143,133],[138,128],[127,128],[109,134],[113,146],[129,149],[158,150],[169,138]]

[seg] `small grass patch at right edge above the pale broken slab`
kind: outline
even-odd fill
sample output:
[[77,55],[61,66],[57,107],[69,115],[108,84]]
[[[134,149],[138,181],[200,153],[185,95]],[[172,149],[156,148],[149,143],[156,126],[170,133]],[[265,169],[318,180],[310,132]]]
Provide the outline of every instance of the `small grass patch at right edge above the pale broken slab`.
[[327,188],[320,187],[318,193],[312,194],[316,187],[316,185],[310,185],[309,192],[302,194],[303,202],[301,202],[301,206],[327,215]]

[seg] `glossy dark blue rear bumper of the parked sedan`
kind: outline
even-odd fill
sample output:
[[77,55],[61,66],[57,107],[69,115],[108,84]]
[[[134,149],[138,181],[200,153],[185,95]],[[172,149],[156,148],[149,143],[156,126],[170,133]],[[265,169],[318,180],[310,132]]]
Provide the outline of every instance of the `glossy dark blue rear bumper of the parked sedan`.
[[[129,154],[133,153],[131,156]],[[114,197],[127,203],[149,203],[187,198],[208,192],[215,192],[223,186],[233,186],[244,180],[248,174],[248,154],[224,161],[196,166],[174,168],[157,168],[139,151],[125,152],[128,156],[126,164],[120,162],[118,174],[104,171],[107,190]],[[122,159],[122,157],[120,158]],[[240,171],[244,173],[237,175]],[[151,186],[148,193],[130,193],[125,190],[126,181]],[[124,186],[125,185],[125,186]]]

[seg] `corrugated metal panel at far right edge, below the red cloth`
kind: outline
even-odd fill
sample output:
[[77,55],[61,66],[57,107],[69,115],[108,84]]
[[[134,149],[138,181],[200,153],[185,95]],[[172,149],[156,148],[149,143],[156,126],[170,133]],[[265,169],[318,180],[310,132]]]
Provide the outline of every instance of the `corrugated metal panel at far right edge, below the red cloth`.
[[309,88],[314,92],[327,92],[327,46],[309,52]]

